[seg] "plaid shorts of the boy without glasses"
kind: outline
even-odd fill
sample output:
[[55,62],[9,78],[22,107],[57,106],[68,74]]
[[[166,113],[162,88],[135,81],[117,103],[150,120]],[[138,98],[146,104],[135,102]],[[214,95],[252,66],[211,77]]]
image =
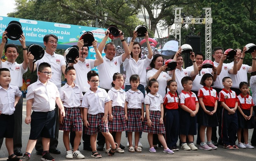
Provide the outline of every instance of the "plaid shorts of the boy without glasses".
[[82,117],[79,107],[66,108],[64,107],[66,116],[63,118],[63,125],[60,124],[59,130],[70,131],[71,126],[73,131],[82,131]]

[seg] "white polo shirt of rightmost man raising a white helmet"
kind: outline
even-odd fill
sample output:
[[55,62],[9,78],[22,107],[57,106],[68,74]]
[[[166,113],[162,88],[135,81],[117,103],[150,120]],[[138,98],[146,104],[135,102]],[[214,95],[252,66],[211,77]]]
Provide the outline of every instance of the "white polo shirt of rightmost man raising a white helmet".
[[[234,66],[234,61],[227,64],[229,67]],[[249,73],[250,66],[242,64],[237,74],[229,74],[229,77],[232,79],[232,87],[239,89],[240,82],[248,82],[247,73]]]

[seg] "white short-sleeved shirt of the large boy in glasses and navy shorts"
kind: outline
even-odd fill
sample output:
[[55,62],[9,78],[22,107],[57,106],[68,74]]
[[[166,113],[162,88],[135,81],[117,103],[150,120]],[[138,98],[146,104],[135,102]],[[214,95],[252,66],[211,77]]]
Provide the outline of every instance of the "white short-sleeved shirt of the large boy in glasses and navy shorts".
[[39,79],[28,86],[26,100],[33,98],[32,110],[48,112],[55,109],[56,97],[60,97],[57,86],[50,81],[44,85]]

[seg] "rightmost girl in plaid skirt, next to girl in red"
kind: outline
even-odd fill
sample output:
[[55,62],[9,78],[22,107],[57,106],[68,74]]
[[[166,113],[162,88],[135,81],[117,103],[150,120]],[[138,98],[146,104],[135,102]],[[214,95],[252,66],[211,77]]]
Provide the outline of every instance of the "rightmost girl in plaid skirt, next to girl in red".
[[161,142],[164,153],[174,154],[166,144],[163,134],[165,128],[163,124],[163,98],[158,94],[159,84],[157,80],[151,79],[148,82],[147,95],[145,96],[144,103],[146,104],[146,117],[144,120],[143,132],[148,133],[148,143],[150,146],[149,152],[156,153],[153,146],[153,134],[157,134],[159,141]]

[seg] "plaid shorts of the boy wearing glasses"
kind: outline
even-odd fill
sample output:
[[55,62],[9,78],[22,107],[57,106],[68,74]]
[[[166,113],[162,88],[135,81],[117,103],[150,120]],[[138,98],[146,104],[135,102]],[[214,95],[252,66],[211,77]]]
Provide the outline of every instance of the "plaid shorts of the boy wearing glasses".
[[85,134],[94,135],[100,132],[108,132],[108,123],[103,124],[102,117],[104,113],[99,113],[96,115],[87,114],[87,120],[89,123],[88,128],[85,127]]

